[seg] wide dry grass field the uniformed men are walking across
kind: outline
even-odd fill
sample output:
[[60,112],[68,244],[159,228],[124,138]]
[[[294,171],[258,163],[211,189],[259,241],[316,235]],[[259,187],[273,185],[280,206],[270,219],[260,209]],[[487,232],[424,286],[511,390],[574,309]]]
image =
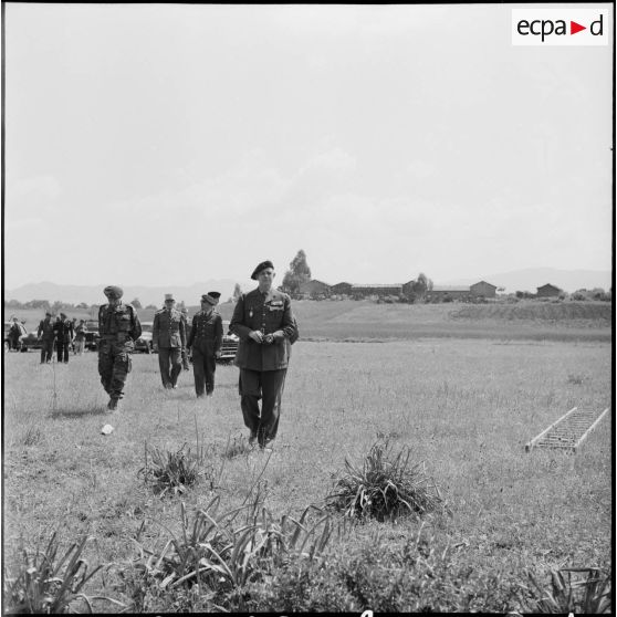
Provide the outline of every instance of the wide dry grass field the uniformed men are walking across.
[[[96,354],[57,366],[40,366],[38,353],[6,355],[7,563],[15,562],[20,543],[44,543],[54,529],[65,543],[88,534],[90,562],[115,564],[90,588],[127,602],[119,569],[136,556],[134,538],[142,529],[140,542],[154,547],[169,535],[161,524],[178,533],[180,501],[194,513],[219,495],[231,509],[259,482],[272,516],[297,517],[310,504],[323,505],[345,458],[362,461],[376,441],[388,440],[423,462],[447,502],[451,515],[427,517],[422,533],[430,530],[436,554],[450,551],[450,562],[440,562],[433,578],[450,581],[460,602],[432,587],[423,605],[395,592],[385,598],[395,578],[391,564],[399,563],[396,552],[410,538],[418,547],[420,522],[410,519],[345,527],[331,542],[328,567],[338,564],[358,581],[362,567],[373,563],[369,555],[380,555],[370,576],[384,577],[381,590],[367,577],[366,588],[356,589],[355,599],[346,592],[343,602],[330,588],[317,589],[316,576],[312,584],[321,599],[310,602],[311,584],[300,592],[295,577],[293,585],[285,583],[285,595],[283,577],[271,585],[276,593],[249,593],[252,610],[355,610],[363,608],[358,598],[375,610],[496,610],[506,593],[491,592],[489,581],[516,586],[527,572],[610,567],[610,419],[576,454],[524,451],[572,407],[599,414],[610,406],[606,310],[569,315],[567,323],[562,316],[560,323],[553,313],[516,317],[484,305],[299,302],[295,307],[302,341],[293,347],[272,454],[226,456],[247,433],[233,366],[219,366],[215,396],[197,401],[190,373],[182,373],[177,390],[164,390],[157,357],[134,355],[122,410],[111,416]],[[448,337],[438,336],[446,324]],[[420,337],[418,327],[433,335]],[[106,422],[115,428],[109,436],[101,433]],[[201,453],[201,481],[160,499],[138,473],[145,450],[177,451],[185,443]],[[418,563],[405,562],[399,575]],[[468,585],[475,581],[467,604],[463,583],[454,583],[461,577]],[[170,607],[164,598],[148,605],[158,611]]]

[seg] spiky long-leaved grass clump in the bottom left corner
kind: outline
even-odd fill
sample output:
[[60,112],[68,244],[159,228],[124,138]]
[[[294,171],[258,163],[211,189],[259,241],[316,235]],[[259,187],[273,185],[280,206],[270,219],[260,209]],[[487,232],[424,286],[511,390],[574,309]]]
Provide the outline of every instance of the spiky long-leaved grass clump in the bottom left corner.
[[28,550],[20,551],[20,563],[17,576],[4,572],[2,600],[4,613],[74,613],[83,604],[93,613],[92,602],[102,599],[124,605],[104,596],[87,597],[84,585],[101,569],[95,567],[88,573],[88,565],[83,558],[84,547],[88,538],[73,543],[61,556],[57,556],[59,540],[54,532],[46,548],[32,554]]

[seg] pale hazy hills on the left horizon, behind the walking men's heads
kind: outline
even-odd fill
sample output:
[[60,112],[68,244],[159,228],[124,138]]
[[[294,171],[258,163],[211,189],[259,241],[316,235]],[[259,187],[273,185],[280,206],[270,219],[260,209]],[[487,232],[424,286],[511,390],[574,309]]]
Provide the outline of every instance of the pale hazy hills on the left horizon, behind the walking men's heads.
[[[248,282],[238,281],[243,291],[249,291],[254,286]],[[122,283],[121,283],[122,285]],[[219,291],[221,301],[226,301],[233,295],[236,281],[230,279],[218,279],[194,283],[192,285],[166,285],[148,287],[145,285],[122,285],[124,289],[124,300],[130,302],[135,297],[139,299],[143,306],[155,304],[163,306],[166,293],[172,293],[176,300],[184,300],[188,304],[198,304],[201,294],[209,291]],[[98,285],[57,285],[55,283],[30,283],[13,290],[4,291],[4,300],[17,300],[18,302],[28,302],[30,300],[49,300],[50,302],[69,302],[71,304],[101,304],[105,302],[103,289],[105,284]]]

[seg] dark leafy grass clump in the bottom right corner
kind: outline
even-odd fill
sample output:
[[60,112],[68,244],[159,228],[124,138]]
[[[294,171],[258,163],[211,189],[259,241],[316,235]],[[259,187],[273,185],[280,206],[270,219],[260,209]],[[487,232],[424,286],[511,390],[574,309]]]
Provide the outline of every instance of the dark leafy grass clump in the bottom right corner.
[[[579,577],[585,574],[585,578]],[[610,573],[602,568],[552,569],[548,586],[531,573],[529,579],[530,587],[523,586],[523,589],[527,590],[532,599],[527,600],[525,611],[595,615],[606,615],[613,611]]]

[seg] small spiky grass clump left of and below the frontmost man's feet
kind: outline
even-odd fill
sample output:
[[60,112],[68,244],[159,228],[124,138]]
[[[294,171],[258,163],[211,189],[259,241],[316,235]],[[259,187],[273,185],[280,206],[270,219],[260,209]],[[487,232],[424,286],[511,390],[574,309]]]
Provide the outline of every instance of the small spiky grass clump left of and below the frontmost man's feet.
[[[149,461],[148,461],[149,453]],[[185,443],[178,451],[160,450],[156,446],[145,448],[146,464],[139,470],[146,482],[151,482],[158,496],[168,492],[185,493],[188,487],[199,480],[199,457],[191,457]],[[211,471],[211,470],[210,470]],[[209,474],[212,478],[212,473]]]

